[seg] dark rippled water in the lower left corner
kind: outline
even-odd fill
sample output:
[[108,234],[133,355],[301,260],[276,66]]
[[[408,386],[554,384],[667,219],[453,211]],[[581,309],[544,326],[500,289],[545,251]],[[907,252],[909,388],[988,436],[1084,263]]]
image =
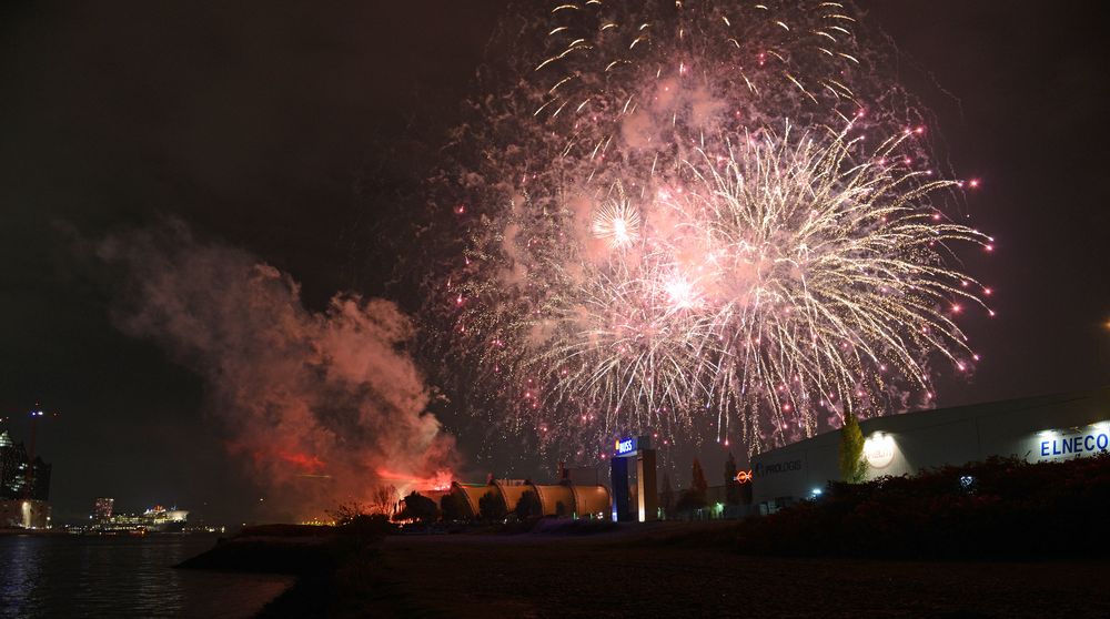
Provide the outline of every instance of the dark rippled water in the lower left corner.
[[0,617],[251,617],[292,584],[172,569],[212,536],[0,537]]

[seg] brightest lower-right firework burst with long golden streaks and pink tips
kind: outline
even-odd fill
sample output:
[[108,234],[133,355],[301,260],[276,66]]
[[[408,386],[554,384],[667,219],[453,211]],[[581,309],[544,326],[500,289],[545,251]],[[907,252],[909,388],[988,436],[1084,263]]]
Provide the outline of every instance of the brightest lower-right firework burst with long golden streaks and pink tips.
[[891,385],[929,393],[930,357],[965,369],[953,307],[981,302],[949,247],[990,241],[937,217],[955,182],[906,168],[905,135],[860,158],[849,130],[729,141],[642,205],[635,246],[553,256],[555,292],[523,321],[532,410],[587,409],[605,433],[708,408],[758,449],[876,414]]

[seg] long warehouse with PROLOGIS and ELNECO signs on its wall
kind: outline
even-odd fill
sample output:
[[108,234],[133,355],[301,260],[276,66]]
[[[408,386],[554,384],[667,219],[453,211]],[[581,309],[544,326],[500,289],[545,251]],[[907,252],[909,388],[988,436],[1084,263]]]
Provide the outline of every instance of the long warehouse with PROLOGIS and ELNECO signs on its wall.
[[[859,423],[867,479],[991,456],[1030,463],[1106,453],[1110,387],[876,417]],[[767,514],[840,480],[839,430],[751,458],[753,500]]]

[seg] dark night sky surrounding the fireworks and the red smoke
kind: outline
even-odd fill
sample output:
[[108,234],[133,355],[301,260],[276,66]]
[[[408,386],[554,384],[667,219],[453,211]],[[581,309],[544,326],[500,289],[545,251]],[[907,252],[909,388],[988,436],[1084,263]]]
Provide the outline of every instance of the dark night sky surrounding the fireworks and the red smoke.
[[[983,361],[942,380],[938,404],[1110,382],[1100,3],[865,7],[901,50],[900,80],[937,115],[952,169],[982,179],[968,211],[997,239],[967,264],[996,291],[996,318],[961,323]],[[417,179],[396,154],[434,153],[458,121],[503,10],[6,4],[0,427],[21,439],[36,402],[59,413],[39,439],[56,520],[113,496],[123,509],[178,504],[231,521],[259,498],[233,473],[201,379],[117,328],[118,277],[91,247],[175,217],[290,273],[310,307],[352,291],[415,310],[397,248],[418,214],[397,196]]]

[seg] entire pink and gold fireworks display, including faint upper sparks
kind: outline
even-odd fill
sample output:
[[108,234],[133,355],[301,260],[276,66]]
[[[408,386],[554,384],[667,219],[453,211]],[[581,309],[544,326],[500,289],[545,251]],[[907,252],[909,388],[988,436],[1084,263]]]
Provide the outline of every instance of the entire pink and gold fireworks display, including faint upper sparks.
[[850,13],[589,0],[525,29],[542,52],[440,179],[466,234],[436,310],[492,420],[758,451],[977,361],[955,317],[989,291],[957,251],[991,241],[946,215],[961,182]]

